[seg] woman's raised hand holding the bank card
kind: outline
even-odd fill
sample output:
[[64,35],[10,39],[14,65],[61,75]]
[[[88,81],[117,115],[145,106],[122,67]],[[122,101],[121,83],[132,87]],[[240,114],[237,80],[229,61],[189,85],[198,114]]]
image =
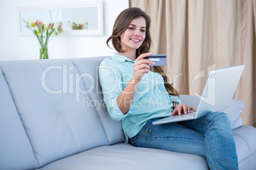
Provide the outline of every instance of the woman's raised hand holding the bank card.
[[155,62],[152,62],[151,60],[146,59],[146,56],[150,56],[151,53],[143,53],[134,60],[134,65],[133,65],[133,75],[132,77],[136,82],[141,81],[142,76],[145,73],[148,73],[150,70],[150,66],[148,64],[154,65]]

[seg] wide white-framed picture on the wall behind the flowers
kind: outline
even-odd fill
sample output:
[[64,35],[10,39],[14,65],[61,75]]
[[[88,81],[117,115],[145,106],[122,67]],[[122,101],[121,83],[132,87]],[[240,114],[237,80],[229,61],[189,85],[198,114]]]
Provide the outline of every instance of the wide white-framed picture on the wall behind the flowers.
[[[34,36],[22,22],[22,19],[27,20],[29,16],[32,16],[34,22],[36,20],[62,22],[62,36],[102,36],[104,34],[103,1],[17,8],[18,36]],[[71,27],[72,23],[81,23],[81,21],[88,23],[86,28]]]

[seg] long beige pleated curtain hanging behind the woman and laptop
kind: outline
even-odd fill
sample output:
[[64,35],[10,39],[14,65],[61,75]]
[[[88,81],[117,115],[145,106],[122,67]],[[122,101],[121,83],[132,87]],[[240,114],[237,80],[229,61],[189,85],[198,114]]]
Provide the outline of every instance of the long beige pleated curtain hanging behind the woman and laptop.
[[[130,0],[150,15],[153,54],[182,95],[199,95],[210,70],[245,64],[234,99],[256,126],[256,0]],[[253,120],[254,119],[254,120]]]

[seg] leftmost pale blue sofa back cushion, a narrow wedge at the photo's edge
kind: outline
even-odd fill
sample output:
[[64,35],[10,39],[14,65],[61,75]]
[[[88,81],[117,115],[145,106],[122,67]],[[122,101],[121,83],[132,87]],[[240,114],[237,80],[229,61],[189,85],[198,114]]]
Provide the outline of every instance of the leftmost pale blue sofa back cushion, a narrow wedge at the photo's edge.
[[0,169],[36,168],[38,162],[18,116],[1,67],[0,87]]

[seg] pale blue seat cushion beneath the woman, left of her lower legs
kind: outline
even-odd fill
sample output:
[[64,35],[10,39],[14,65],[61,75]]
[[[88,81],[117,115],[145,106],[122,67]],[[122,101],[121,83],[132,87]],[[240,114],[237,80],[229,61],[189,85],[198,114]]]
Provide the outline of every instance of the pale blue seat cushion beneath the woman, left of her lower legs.
[[118,143],[97,147],[52,162],[46,169],[208,169],[206,159],[152,148]]

